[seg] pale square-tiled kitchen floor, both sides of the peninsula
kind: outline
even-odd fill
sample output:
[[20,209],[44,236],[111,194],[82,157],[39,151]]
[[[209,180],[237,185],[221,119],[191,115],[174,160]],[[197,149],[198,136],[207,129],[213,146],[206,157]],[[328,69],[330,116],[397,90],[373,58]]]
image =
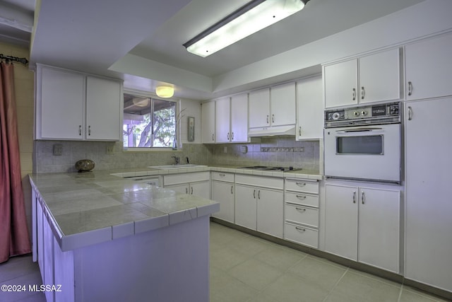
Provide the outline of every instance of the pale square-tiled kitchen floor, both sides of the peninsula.
[[[0,284],[42,284],[31,256],[0,265]],[[0,302],[41,302],[44,294],[5,293]],[[371,274],[210,223],[210,302],[446,301]],[[196,302],[196,301],[187,301]]]

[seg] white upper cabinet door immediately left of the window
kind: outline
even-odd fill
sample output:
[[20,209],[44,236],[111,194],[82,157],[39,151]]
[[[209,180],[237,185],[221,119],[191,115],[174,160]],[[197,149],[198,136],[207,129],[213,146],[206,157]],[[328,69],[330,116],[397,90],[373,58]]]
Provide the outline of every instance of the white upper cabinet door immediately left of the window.
[[121,139],[121,83],[88,76],[86,79],[86,139]]

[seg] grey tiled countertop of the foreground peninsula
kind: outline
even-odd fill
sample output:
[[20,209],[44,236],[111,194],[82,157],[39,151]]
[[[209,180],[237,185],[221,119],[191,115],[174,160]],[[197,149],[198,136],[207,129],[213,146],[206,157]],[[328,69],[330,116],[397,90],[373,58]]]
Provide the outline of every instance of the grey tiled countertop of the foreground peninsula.
[[111,171],[29,176],[63,251],[171,226],[220,209],[218,202],[117,178]]

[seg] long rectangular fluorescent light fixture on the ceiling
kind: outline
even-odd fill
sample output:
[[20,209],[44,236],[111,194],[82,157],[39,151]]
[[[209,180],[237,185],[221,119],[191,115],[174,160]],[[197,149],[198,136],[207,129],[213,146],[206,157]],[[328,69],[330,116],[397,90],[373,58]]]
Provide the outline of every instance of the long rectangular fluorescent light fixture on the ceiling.
[[184,43],[188,52],[207,57],[273,23],[301,11],[309,0],[254,0]]

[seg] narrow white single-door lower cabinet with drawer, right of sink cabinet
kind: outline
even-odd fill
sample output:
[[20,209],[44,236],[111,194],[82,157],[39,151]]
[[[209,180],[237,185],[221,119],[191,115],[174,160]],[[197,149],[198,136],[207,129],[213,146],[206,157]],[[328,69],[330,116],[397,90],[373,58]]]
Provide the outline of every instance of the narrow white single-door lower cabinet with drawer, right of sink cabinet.
[[220,202],[220,211],[212,216],[235,222],[234,173],[212,172],[212,199]]

